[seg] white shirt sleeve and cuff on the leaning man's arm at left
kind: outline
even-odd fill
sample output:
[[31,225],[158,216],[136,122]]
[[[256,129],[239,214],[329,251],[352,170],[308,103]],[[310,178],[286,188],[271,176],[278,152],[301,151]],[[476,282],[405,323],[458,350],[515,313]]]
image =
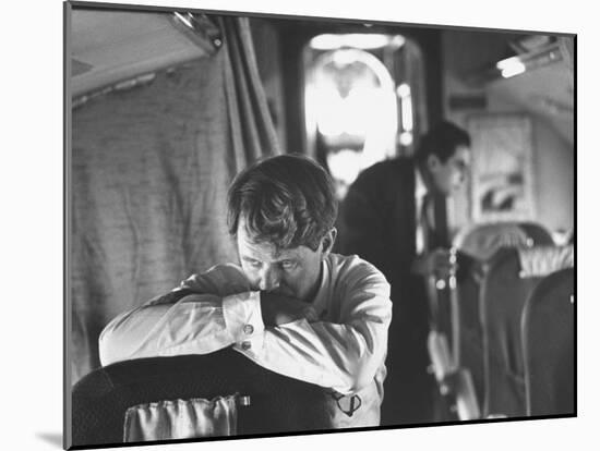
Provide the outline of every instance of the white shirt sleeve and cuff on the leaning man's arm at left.
[[[262,348],[260,293],[227,294],[248,289],[240,277],[231,267],[212,268],[168,295],[119,315],[100,333],[100,363],[208,354],[237,341]],[[230,283],[225,288],[221,282],[227,278]],[[178,296],[181,289],[192,292]]]

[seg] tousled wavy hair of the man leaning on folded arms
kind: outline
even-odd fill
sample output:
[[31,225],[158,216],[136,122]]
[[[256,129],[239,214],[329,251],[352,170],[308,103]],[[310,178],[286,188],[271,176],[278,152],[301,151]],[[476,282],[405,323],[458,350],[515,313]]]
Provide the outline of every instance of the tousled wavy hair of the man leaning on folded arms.
[[316,251],[337,217],[329,174],[312,159],[292,154],[259,160],[241,171],[227,204],[232,236],[243,219],[254,242],[279,249],[303,245]]

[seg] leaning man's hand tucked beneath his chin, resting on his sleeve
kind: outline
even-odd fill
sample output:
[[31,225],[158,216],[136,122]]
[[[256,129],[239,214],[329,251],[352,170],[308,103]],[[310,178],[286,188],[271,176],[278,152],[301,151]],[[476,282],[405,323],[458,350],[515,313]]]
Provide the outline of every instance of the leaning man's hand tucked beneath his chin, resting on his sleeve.
[[312,305],[267,291],[261,291],[261,310],[266,327],[281,326],[299,319],[307,319],[309,322],[319,319]]

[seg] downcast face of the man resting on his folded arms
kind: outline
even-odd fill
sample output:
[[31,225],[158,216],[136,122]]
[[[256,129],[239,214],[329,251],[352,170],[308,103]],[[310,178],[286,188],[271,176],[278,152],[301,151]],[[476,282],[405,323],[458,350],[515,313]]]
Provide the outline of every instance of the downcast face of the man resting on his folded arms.
[[255,290],[269,291],[311,302],[321,281],[321,261],[328,253],[323,243],[316,251],[307,246],[277,249],[254,243],[240,220],[237,234],[242,269]]

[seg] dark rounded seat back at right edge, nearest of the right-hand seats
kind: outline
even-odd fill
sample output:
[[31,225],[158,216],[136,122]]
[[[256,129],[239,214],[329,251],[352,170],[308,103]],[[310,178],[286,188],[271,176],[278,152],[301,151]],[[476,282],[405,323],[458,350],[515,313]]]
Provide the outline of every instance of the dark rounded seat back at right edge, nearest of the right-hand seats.
[[575,414],[573,268],[545,277],[521,318],[527,415]]

